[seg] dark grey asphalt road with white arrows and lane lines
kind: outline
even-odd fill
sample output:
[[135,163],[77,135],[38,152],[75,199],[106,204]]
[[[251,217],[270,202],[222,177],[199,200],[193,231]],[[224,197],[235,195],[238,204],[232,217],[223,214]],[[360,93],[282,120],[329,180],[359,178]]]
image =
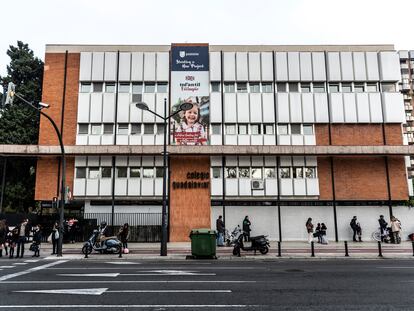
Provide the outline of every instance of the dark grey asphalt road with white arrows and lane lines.
[[413,293],[412,260],[0,259],[0,311],[414,310]]

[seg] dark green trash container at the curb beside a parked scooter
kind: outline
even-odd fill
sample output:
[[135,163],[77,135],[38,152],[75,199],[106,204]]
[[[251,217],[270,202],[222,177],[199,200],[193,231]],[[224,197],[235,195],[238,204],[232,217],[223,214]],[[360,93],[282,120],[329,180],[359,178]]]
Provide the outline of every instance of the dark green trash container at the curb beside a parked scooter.
[[211,229],[193,229],[190,233],[191,255],[194,258],[216,259],[216,231]]

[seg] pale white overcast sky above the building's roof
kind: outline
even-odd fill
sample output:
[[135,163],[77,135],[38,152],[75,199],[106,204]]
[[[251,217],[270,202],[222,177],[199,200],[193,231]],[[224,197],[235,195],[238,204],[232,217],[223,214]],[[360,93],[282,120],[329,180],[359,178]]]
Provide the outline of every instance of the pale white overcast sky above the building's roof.
[[[13,0],[1,14],[0,75],[9,45],[394,44],[410,42],[413,0]],[[408,14],[406,13],[408,12]]]

